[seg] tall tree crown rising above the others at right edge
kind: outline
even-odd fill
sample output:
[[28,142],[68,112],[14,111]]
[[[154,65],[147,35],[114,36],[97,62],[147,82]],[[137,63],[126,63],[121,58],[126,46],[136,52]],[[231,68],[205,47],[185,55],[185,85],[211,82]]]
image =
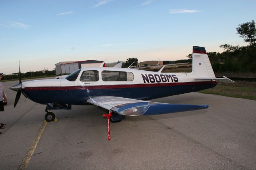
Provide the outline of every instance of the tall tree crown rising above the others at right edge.
[[240,34],[240,37],[244,38],[245,42],[250,43],[250,47],[255,47],[256,28],[254,20],[252,20],[252,22],[246,22],[238,25],[236,30],[237,34]]

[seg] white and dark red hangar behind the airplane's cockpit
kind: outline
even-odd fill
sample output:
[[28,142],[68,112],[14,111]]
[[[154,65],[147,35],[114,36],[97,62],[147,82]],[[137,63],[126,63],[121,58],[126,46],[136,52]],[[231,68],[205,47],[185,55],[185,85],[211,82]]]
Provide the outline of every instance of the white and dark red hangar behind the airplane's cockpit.
[[[56,75],[70,74],[83,67],[99,67],[103,61],[86,60],[86,61],[63,61],[55,64]],[[105,67],[105,64],[103,65]]]

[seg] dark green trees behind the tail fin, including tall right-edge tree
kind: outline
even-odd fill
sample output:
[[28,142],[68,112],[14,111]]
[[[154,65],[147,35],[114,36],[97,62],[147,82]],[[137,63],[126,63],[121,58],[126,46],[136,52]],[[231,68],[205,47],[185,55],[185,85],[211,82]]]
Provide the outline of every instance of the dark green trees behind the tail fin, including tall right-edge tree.
[[[242,23],[236,28],[240,37],[250,45],[240,47],[229,44],[220,45],[226,51],[207,53],[214,72],[253,72],[256,73],[256,28],[255,22]],[[187,56],[189,57],[189,55]]]

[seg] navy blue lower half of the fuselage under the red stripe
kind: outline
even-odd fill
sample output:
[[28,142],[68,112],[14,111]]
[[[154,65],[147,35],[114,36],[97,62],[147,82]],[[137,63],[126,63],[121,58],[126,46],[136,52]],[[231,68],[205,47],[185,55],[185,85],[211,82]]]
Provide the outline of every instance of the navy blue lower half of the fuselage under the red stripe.
[[34,90],[24,91],[30,100],[40,103],[61,103],[71,105],[86,105],[90,97],[116,96],[130,99],[150,100],[171,95],[190,93],[215,87],[216,83],[195,85],[174,85],[136,88],[114,88],[114,89],[67,89],[67,90]]

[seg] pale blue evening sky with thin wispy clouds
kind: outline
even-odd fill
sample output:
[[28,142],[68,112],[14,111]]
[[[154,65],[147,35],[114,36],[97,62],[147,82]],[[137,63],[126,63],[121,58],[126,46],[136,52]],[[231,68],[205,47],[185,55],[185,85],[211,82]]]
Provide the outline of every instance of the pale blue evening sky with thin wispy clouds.
[[255,0],[0,0],[0,73],[61,61],[187,59],[192,46],[248,45]]

